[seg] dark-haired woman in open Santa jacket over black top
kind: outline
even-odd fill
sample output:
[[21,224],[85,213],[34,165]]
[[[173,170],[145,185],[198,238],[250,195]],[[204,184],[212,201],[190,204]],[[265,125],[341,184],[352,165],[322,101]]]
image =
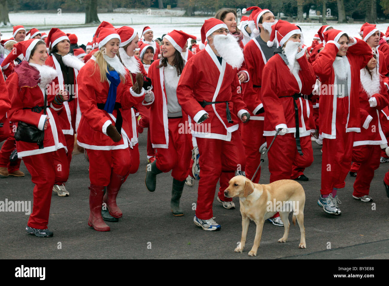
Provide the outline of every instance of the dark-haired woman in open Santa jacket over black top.
[[[66,139],[68,167],[70,167],[74,148],[74,137],[77,130],[76,121],[77,119],[79,121],[81,117],[80,112],[78,112],[77,117],[77,75],[78,71],[84,66],[84,63],[70,54],[69,38],[60,29],[52,28],[47,39],[50,56],[47,58],[45,65],[53,67],[57,71],[58,86],[55,86],[55,88],[66,90],[69,95],[69,100],[63,103],[63,109],[58,112],[58,116],[60,118],[59,125]],[[56,182],[53,191],[60,197],[67,197],[69,195],[68,190],[65,188],[65,183],[60,184],[58,182],[57,184]]]

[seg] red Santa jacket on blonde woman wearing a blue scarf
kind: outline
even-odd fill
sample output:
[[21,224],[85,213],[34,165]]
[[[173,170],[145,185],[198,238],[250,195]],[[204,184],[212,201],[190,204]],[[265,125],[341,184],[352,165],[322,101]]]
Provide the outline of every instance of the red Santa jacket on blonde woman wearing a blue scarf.
[[[123,117],[121,128],[122,139],[114,142],[103,130],[109,124],[115,125],[117,110],[112,114],[98,109],[97,104],[104,104],[107,101],[109,83],[100,81],[100,69],[95,66],[95,57],[81,68],[78,75],[78,95],[81,110],[81,120],[77,129],[77,144],[86,149],[113,150],[126,149],[131,146],[131,133],[127,116]],[[126,76],[126,82],[121,82],[116,90],[116,102],[121,104],[121,109],[130,109],[140,100],[144,99],[144,94],[137,95],[131,90],[131,80]]]

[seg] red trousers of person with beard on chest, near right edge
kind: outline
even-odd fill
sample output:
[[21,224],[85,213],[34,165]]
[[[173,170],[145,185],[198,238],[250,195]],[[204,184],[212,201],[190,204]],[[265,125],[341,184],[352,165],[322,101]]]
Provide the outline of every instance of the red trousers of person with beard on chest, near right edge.
[[379,145],[361,145],[352,148],[352,161],[361,163],[354,182],[355,197],[369,194],[374,171],[380,166],[381,148]]

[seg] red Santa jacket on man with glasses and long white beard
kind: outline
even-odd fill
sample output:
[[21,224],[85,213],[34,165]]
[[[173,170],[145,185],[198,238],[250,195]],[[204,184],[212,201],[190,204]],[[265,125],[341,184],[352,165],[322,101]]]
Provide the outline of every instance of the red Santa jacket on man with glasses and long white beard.
[[[224,59],[220,64],[209,45],[193,56],[186,63],[177,86],[178,102],[188,114],[188,121],[194,124],[193,136],[230,141],[231,133],[238,130],[242,114],[248,112],[238,91],[237,70]],[[203,101],[223,103],[205,105],[203,108],[199,104]],[[233,123],[228,123],[224,101],[228,101]],[[234,109],[238,111],[238,116],[232,112]],[[198,125],[203,114],[209,114],[209,118]],[[202,132],[205,131],[205,124],[209,124],[209,128],[207,132]]]

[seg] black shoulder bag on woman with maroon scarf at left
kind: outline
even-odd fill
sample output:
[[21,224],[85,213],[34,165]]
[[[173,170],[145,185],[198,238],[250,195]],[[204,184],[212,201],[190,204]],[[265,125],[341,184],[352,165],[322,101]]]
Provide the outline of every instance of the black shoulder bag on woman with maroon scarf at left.
[[[45,99],[44,99],[44,106],[35,106],[35,107],[26,107],[23,109],[31,109],[33,112],[40,112],[42,111],[42,107],[44,109],[43,114],[46,115],[46,108],[47,108],[47,94],[45,91]],[[23,141],[23,142],[29,142],[29,143],[37,143],[39,146],[39,149],[43,149],[43,139],[45,137],[44,130],[39,130],[37,126],[27,124],[23,121],[19,121],[18,128],[16,129],[15,133],[15,140],[16,141]]]

